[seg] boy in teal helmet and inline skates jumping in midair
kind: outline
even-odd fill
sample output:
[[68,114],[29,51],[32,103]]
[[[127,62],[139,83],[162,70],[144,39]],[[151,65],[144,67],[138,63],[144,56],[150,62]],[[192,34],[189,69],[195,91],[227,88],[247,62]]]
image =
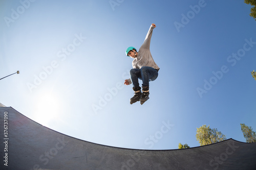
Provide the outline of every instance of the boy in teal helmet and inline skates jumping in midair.
[[[142,105],[146,102],[150,94],[149,82],[156,80],[158,77],[160,68],[155,63],[150,52],[150,42],[154,28],[156,28],[156,25],[152,23],[138,52],[133,46],[128,47],[125,51],[126,56],[134,59],[133,68],[130,70],[130,79],[124,81],[125,85],[133,84],[134,96],[130,99],[131,104],[140,101]],[[142,93],[138,79],[142,80]]]

